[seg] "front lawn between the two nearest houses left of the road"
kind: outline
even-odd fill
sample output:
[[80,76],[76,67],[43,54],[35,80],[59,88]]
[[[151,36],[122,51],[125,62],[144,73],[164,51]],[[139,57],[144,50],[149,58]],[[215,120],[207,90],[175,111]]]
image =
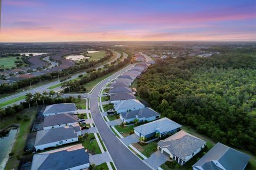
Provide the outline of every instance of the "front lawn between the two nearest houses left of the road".
[[[93,133],[89,133],[89,136],[82,142],[82,145],[85,149],[88,149],[89,152],[94,152],[94,154],[101,154],[100,147]],[[92,142],[90,140],[94,138]]]

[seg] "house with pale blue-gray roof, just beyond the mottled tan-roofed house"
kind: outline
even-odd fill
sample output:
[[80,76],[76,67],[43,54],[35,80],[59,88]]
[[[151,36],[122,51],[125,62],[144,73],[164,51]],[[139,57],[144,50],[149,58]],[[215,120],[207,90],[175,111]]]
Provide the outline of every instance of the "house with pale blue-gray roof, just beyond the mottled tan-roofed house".
[[170,120],[167,117],[164,117],[154,122],[137,126],[133,129],[134,133],[139,135],[139,137],[146,139],[150,137],[155,137],[156,133],[159,134],[159,137],[174,134],[180,131],[181,125]]

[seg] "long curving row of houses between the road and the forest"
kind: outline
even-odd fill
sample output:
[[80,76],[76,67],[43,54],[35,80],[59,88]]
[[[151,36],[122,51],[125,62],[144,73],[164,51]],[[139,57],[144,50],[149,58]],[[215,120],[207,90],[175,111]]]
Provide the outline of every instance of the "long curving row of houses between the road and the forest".
[[[138,67],[143,70],[139,71]],[[110,102],[114,104],[114,109],[120,115],[123,123],[129,124],[135,121],[146,123],[135,126],[135,134],[144,140],[162,138],[163,140],[157,143],[157,150],[178,164],[184,165],[205,148],[206,141],[182,131],[181,125],[169,118],[160,118],[159,113],[144,106],[136,99],[135,92],[129,86],[136,78],[140,77],[142,71],[145,71],[147,67],[146,63],[139,63],[130,70],[131,72],[136,70],[138,73],[131,76],[130,71],[127,71],[124,75],[119,76],[110,85]],[[236,163],[233,163],[233,159],[228,159],[229,157],[234,158]],[[193,169],[244,169],[249,159],[250,157],[242,152],[217,143],[193,165]]]

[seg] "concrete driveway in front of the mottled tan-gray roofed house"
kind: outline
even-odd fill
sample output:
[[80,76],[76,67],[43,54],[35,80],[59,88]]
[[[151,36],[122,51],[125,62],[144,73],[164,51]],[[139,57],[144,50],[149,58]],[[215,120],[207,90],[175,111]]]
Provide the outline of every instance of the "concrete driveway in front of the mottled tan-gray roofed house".
[[161,151],[157,150],[148,159],[145,159],[144,161],[154,169],[157,169],[159,166],[165,163],[166,160],[169,160],[169,156],[164,155],[161,153]]

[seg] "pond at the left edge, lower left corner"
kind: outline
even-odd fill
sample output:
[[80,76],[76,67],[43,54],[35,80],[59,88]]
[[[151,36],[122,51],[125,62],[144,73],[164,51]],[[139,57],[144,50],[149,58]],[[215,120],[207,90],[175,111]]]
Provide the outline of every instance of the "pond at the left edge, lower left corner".
[[17,127],[11,127],[0,133],[0,169],[5,167],[17,132]]

